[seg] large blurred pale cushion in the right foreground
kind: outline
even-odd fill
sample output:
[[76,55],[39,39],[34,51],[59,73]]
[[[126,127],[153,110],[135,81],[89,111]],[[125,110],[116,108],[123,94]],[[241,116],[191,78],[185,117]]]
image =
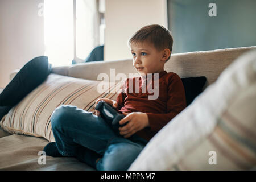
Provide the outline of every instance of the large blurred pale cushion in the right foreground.
[[256,166],[256,51],[239,57],[153,137],[129,170]]

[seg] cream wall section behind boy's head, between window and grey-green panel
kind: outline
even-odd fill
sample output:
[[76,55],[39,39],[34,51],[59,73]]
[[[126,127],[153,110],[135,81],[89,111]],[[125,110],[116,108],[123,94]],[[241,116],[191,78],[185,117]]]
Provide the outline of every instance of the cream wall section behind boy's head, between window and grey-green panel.
[[167,27],[166,0],[106,0],[104,60],[131,58],[127,40],[147,24]]

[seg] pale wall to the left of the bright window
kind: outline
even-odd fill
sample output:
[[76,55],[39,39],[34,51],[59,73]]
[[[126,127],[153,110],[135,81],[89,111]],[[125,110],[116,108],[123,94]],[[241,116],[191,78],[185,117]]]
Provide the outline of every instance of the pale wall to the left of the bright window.
[[38,16],[43,0],[0,1],[0,87],[9,75],[27,61],[44,54],[43,17]]

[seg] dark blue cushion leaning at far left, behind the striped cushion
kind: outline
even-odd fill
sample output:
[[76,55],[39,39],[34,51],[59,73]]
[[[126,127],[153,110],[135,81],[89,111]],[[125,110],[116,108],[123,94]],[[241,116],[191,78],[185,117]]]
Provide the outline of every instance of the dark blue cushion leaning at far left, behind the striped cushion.
[[40,56],[28,61],[0,94],[0,119],[11,107],[46,80],[51,73],[48,57]]

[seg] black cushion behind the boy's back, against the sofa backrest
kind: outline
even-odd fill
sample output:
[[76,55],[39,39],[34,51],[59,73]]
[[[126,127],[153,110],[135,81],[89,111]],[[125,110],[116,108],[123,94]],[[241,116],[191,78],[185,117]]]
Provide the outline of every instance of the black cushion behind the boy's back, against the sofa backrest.
[[190,77],[181,78],[183,86],[185,89],[187,106],[193,102],[193,100],[202,92],[204,84],[206,82],[206,77]]

